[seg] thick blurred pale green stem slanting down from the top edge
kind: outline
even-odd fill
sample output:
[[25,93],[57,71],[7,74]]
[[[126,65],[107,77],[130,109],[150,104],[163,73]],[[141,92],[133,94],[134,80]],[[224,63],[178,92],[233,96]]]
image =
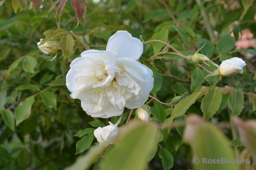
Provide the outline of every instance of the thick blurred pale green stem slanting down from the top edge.
[[206,24],[206,30],[207,30],[207,32],[208,32],[208,35],[209,35],[209,37],[210,37],[210,40],[211,40],[212,42],[214,42],[215,36],[214,36],[214,34],[213,34],[212,27],[210,26],[209,18],[208,18],[208,16],[207,16],[207,13],[206,13],[206,11],[205,11],[205,8],[204,8],[204,6],[203,6],[203,3],[202,3],[201,0],[196,0],[196,3],[197,3],[197,5],[198,5],[199,8],[200,8],[200,12],[201,12],[201,15],[202,15],[202,17],[203,17],[204,23]]

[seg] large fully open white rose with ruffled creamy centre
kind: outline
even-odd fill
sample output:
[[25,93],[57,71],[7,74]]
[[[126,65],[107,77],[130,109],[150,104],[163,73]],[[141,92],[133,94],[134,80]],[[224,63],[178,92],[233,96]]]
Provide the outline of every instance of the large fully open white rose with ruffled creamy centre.
[[119,116],[142,106],[153,89],[153,72],[136,61],[143,44],[127,31],[112,35],[104,51],[87,50],[71,62],[66,86],[92,117]]

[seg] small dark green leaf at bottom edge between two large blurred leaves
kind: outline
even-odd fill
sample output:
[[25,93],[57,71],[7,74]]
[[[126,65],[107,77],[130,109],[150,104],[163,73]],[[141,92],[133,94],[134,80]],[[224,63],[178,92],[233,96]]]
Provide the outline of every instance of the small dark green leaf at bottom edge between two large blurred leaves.
[[172,154],[165,148],[161,148],[159,151],[159,157],[162,158],[162,166],[164,170],[170,170],[174,164],[174,158]]

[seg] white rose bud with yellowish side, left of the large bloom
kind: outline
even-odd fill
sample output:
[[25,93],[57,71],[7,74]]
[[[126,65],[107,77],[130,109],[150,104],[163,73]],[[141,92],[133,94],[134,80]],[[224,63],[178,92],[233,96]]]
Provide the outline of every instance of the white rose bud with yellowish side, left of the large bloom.
[[[37,45],[41,43],[43,39],[40,39],[40,42],[37,42]],[[43,45],[39,45],[38,48],[45,54],[54,54],[59,51],[58,41],[47,41]]]

